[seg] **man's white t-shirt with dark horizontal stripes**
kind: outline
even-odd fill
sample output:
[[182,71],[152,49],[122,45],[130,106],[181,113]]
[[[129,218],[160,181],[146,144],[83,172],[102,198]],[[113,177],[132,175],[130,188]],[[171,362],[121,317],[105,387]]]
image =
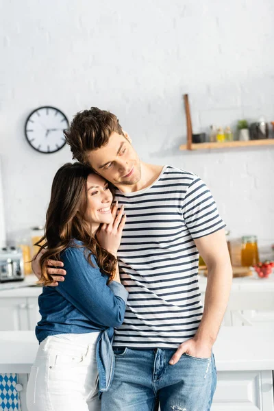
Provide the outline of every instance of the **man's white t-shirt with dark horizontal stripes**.
[[114,346],[177,348],[195,336],[203,313],[193,239],[225,224],[206,184],[172,166],[143,190],[116,190],[116,199],[127,214],[118,258],[129,297]]

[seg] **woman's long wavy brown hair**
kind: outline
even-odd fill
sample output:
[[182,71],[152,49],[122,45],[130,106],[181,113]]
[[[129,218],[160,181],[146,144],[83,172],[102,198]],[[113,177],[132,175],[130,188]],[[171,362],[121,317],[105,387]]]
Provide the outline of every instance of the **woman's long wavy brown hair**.
[[[79,162],[66,163],[55,174],[51,187],[51,199],[47,210],[45,234],[36,243],[45,250],[40,258],[42,276],[39,284],[47,286],[53,282],[47,273],[47,261],[60,260],[60,254],[71,246],[73,238],[83,242],[90,253],[86,259],[93,266],[91,256],[95,256],[100,269],[110,276],[109,282],[115,275],[116,258],[99,245],[96,236],[92,235],[91,226],[84,221],[87,208],[87,179],[94,173],[88,166]],[[110,186],[112,195],[114,188]],[[39,251],[39,252],[40,252]],[[35,259],[36,257],[34,257]]]

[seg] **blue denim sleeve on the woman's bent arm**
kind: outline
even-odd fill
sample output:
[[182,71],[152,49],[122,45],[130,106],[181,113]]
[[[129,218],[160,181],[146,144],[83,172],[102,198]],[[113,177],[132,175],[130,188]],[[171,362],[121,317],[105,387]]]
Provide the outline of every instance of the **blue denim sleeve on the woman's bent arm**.
[[93,323],[119,327],[125,315],[127,290],[118,282],[108,286],[95,258],[92,256],[94,267],[86,260],[84,248],[66,249],[62,261],[66,276],[56,290]]

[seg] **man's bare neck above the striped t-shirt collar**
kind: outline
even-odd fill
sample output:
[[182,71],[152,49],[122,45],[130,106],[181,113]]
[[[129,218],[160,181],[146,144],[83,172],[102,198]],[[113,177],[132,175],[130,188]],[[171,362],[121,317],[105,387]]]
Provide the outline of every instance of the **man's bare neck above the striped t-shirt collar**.
[[158,166],[155,164],[147,164],[140,162],[141,168],[141,178],[136,184],[116,184],[116,187],[121,190],[121,192],[134,192],[143,190],[155,182],[162,172],[163,166]]

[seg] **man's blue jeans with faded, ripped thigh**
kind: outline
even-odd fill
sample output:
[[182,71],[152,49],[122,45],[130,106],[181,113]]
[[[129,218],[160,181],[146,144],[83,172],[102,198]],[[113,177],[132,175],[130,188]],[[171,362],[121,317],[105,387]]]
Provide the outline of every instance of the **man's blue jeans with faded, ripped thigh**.
[[183,354],[175,365],[174,349],[114,347],[115,371],[101,411],[209,411],[216,389],[214,356]]

